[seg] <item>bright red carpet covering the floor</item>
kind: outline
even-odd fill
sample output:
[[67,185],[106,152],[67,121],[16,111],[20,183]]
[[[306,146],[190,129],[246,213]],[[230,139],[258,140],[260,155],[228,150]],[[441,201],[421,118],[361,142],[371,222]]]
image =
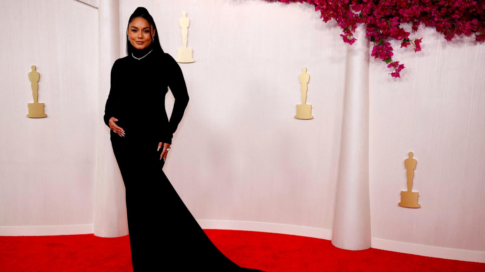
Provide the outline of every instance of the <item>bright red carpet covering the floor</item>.
[[[303,236],[217,229],[205,229],[205,232],[235,263],[267,272],[485,271],[485,263],[373,248],[343,250],[329,240]],[[0,236],[0,271],[130,272],[129,237],[100,238],[93,234]]]

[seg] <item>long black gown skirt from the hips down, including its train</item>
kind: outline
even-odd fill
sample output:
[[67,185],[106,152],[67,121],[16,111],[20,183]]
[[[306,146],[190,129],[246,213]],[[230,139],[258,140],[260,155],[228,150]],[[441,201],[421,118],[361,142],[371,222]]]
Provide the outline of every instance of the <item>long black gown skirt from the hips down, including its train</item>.
[[[210,241],[162,170],[158,143],[111,132],[125,184],[134,272],[160,266],[180,271],[260,271],[242,268]],[[145,143],[145,144],[144,144]],[[167,158],[168,159],[168,158]]]

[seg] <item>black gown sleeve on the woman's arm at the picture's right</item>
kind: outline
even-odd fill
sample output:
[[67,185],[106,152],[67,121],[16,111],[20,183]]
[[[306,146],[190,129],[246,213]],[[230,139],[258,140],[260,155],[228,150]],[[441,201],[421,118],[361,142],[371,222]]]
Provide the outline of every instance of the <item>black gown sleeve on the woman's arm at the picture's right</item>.
[[168,127],[162,130],[162,135],[160,136],[160,141],[162,143],[172,144],[172,137],[177,130],[178,123],[182,120],[185,108],[189,103],[189,94],[187,93],[187,86],[185,85],[185,80],[182,74],[182,70],[178,65],[177,61],[174,60],[172,56],[168,53],[168,87],[175,98],[174,108],[172,110],[172,115],[170,121],[168,122]]

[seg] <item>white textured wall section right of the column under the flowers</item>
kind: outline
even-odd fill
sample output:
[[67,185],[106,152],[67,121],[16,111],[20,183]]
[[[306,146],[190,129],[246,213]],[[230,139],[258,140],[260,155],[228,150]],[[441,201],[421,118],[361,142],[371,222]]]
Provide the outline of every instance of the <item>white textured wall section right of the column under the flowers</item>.
[[[427,28],[418,53],[394,42],[401,79],[370,61],[372,237],[485,251],[485,45]],[[420,209],[399,207],[414,152]]]

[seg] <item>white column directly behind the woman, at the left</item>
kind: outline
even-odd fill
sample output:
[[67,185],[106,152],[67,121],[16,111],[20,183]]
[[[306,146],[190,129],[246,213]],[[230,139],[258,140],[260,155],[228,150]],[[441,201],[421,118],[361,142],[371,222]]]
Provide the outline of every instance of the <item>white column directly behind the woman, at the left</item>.
[[119,1],[99,0],[99,91],[97,180],[94,235],[119,237],[128,234],[125,186],[113,154],[110,129],[103,121],[110,91],[111,67],[120,57]]

